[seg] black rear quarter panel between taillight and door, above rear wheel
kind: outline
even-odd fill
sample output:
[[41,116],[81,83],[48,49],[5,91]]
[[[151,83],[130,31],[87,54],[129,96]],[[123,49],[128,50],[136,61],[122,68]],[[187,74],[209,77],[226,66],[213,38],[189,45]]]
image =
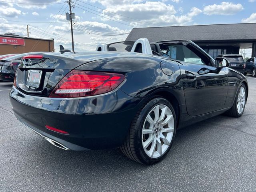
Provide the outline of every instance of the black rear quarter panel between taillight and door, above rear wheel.
[[[162,68],[172,71],[171,75],[164,74],[161,62],[165,62]],[[126,75],[126,82],[120,90],[129,96],[147,98],[158,91],[166,91],[173,94],[180,105],[185,104],[180,68],[171,60],[154,57],[109,58],[86,63],[76,70],[119,72]]]

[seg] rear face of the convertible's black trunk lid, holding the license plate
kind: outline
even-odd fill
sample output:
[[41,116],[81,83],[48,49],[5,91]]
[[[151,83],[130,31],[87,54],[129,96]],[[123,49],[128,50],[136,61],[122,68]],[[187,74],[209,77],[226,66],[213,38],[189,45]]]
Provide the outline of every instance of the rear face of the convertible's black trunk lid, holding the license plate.
[[16,87],[26,94],[49,96],[58,82],[72,69],[84,64],[56,55],[24,56],[16,72]]

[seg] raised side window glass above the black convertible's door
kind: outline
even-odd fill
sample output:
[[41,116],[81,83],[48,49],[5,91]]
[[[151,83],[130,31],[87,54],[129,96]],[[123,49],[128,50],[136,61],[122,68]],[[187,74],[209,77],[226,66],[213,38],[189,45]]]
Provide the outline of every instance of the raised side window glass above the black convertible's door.
[[194,53],[192,50],[190,50],[184,45],[168,45],[168,52],[166,52],[166,54],[168,54],[172,59],[189,62],[193,64],[205,65],[204,60],[202,60],[196,53]]

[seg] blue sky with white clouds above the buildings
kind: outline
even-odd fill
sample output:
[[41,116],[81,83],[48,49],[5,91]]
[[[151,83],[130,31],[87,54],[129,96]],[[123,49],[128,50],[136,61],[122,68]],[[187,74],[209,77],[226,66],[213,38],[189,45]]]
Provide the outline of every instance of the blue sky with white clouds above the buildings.
[[[256,22],[256,0],[71,0],[74,47],[82,52],[123,41],[132,28]],[[0,1],[0,34],[54,38],[55,49],[71,46],[65,0]]]

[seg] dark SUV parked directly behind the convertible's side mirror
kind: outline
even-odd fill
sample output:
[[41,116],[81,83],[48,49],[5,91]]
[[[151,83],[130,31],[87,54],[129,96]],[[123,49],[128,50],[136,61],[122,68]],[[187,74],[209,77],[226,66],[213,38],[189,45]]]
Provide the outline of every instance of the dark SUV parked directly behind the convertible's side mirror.
[[232,68],[241,73],[244,73],[245,62],[242,55],[226,54],[226,55],[218,55],[217,57],[226,58],[230,62],[230,64],[228,65],[229,68]]

